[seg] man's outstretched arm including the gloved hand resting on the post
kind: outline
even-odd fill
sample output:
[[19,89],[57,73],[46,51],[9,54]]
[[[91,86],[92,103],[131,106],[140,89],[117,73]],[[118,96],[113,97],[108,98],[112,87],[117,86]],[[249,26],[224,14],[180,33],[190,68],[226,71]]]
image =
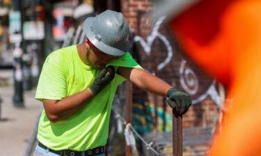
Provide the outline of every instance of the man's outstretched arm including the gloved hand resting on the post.
[[120,67],[118,73],[147,92],[167,96],[168,104],[178,115],[186,113],[191,106],[191,98],[188,94],[179,89],[171,89],[173,88],[171,85],[143,69]]

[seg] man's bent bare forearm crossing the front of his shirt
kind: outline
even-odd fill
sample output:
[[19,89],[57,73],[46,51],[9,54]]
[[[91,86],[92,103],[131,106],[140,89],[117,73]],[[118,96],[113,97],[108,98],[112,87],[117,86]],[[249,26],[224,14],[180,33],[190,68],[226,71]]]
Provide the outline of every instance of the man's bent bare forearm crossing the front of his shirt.
[[44,100],[45,112],[50,121],[61,121],[79,112],[93,96],[90,89],[84,89],[82,92],[65,97],[60,101]]

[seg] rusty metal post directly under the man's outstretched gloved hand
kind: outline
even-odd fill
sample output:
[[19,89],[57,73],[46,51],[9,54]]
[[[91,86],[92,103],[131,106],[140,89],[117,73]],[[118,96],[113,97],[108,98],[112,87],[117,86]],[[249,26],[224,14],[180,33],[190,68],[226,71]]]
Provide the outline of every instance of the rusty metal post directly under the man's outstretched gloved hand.
[[182,116],[173,110],[173,156],[182,156]]

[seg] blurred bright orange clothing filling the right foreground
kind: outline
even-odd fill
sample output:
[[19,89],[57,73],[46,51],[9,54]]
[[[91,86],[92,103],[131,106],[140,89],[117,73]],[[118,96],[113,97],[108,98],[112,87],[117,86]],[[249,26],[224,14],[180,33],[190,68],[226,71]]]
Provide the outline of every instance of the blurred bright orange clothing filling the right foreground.
[[171,27],[187,54],[232,97],[209,155],[261,155],[261,1],[203,0]]

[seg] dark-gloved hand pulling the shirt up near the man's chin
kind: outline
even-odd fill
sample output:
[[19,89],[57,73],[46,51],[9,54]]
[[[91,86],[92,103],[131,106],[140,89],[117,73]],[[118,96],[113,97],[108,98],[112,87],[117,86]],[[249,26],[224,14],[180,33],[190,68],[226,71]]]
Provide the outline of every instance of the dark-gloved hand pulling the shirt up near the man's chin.
[[90,91],[97,95],[106,85],[111,83],[115,76],[114,68],[109,66],[106,69],[102,69],[100,73],[93,80],[93,84],[90,85]]

